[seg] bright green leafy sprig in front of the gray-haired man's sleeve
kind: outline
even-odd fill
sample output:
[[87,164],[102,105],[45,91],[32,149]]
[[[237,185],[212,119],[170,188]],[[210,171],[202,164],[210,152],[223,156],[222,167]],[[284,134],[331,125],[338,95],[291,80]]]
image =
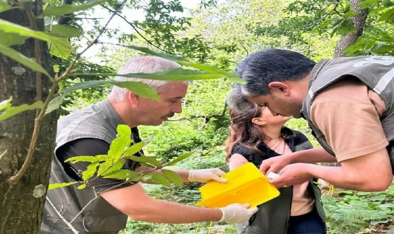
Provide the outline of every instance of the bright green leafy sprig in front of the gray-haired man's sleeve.
[[[8,102],[2,102],[1,106],[8,105]],[[119,180],[125,180],[125,182],[131,181],[149,181],[157,184],[163,184],[164,186],[169,187],[170,181],[175,184],[182,184],[182,178],[180,176],[170,170],[163,170],[163,175],[160,173],[156,173],[155,171],[158,169],[162,169],[163,165],[161,162],[156,160],[154,156],[130,156],[131,153],[136,153],[144,145],[144,142],[137,143],[135,145],[131,145],[132,139],[131,137],[131,128],[125,124],[120,124],[117,126],[117,137],[113,139],[110,149],[108,150],[108,154],[105,155],[96,155],[96,156],[74,156],[65,160],[65,162],[77,163],[77,162],[90,162],[85,171],[82,171],[82,182],[81,186],[78,189],[83,189],[86,185],[89,184],[89,180],[93,180],[98,176],[102,176],[104,178],[115,178]],[[170,165],[174,165],[181,160],[184,160],[190,154],[184,154],[175,158],[172,162],[168,163]],[[123,165],[125,165],[125,160],[131,159],[135,162],[141,162],[143,165],[147,166],[147,169],[150,169],[145,173],[145,171],[131,171],[128,169],[122,169]],[[61,184],[52,184],[50,185],[50,189],[60,188],[64,186],[69,186],[75,183],[61,183]]]

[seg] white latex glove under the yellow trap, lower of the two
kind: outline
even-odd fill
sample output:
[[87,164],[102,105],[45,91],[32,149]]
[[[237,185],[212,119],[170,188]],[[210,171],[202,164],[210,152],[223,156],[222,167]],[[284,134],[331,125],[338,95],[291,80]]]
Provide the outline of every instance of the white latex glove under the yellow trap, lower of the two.
[[242,205],[239,203],[234,203],[226,207],[219,208],[223,214],[219,222],[226,221],[228,223],[242,223],[248,221],[250,217],[258,210],[256,206],[248,208],[249,205],[249,203]]

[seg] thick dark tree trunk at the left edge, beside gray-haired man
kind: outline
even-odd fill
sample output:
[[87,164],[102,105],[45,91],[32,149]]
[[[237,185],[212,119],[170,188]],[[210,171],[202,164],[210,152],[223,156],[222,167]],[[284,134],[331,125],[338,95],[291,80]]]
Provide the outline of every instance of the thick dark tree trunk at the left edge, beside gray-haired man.
[[[38,15],[42,12],[42,0],[33,2],[33,9]],[[29,27],[24,11],[14,9],[0,13],[0,18]],[[43,20],[37,20],[43,30]],[[1,32],[1,31],[0,31]],[[40,41],[41,65],[53,74],[48,45]],[[27,39],[24,45],[12,46],[29,58],[34,57],[34,40]],[[42,76],[42,84],[37,87],[36,73],[20,65],[15,60],[0,54],[0,101],[12,96],[12,105],[32,104],[36,101],[36,89],[42,90],[43,100],[51,87],[50,80]],[[45,194],[34,197],[35,186],[48,186],[50,163],[55,147],[56,111],[48,114],[42,123],[37,145],[26,173],[20,182],[12,185],[8,179],[15,175],[22,166],[30,145],[36,111],[25,111],[14,117],[0,121],[0,233],[20,234],[39,233]]]

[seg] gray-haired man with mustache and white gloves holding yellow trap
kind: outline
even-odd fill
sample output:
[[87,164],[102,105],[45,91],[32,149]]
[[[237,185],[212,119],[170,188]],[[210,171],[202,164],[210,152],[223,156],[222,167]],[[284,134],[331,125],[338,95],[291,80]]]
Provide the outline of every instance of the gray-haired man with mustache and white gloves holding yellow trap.
[[[145,56],[128,61],[119,73],[152,73],[178,68],[163,58]],[[187,82],[116,77],[116,80],[140,81],[158,91],[160,101],[139,97],[128,89],[113,87],[108,99],[92,104],[58,121],[55,157],[50,184],[81,181],[81,171],[89,163],[64,162],[73,156],[107,154],[116,138],[117,125],[132,128],[134,143],[141,141],[139,125],[160,125],[174,113],[181,113],[181,100]],[[137,152],[141,156],[143,152]],[[123,169],[146,170],[138,162],[126,160]],[[226,182],[220,169],[174,170],[184,182]],[[160,173],[160,170],[154,173]],[[93,233],[116,234],[126,226],[127,217],[155,223],[193,223],[203,221],[243,222],[257,208],[249,204],[231,204],[223,208],[200,208],[149,197],[139,182],[96,177],[85,189],[67,186],[48,191],[41,234]]]

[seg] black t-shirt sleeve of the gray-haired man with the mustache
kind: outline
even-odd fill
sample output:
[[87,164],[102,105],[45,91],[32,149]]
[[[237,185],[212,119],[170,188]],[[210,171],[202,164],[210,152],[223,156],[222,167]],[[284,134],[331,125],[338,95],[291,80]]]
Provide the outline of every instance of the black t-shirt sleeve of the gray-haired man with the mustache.
[[[81,181],[82,179],[78,171],[85,171],[90,163],[65,163],[64,161],[74,156],[95,156],[100,154],[107,154],[109,149],[110,145],[105,141],[96,138],[82,138],[70,141],[65,145],[59,147],[59,149],[56,150],[56,156],[63,165],[63,169],[65,170],[67,175],[76,181]],[[130,163],[126,163],[123,166],[123,169],[135,169],[129,168],[128,165],[130,165]],[[94,187],[97,192],[100,192],[104,190],[124,188],[136,183],[137,182],[126,182],[125,180],[97,177],[89,181],[89,186]]]

